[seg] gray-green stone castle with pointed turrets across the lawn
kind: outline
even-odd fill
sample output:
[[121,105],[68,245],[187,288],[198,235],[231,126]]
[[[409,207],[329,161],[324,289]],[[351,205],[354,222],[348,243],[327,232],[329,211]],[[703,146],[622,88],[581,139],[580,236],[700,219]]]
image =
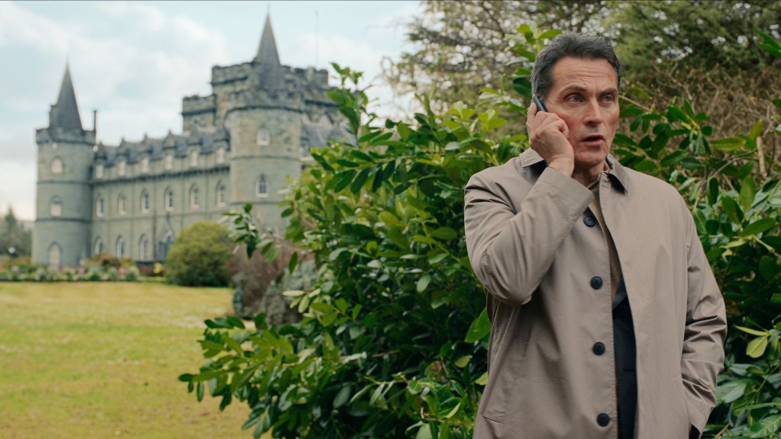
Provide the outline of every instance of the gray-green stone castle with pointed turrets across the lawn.
[[[280,64],[269,17],[250,62],[212,67],[212,94],[182,100],[182,134],[116,146],[85,130],[66,66],[49,125],[36,130],[33,262],[75,266],[100,252],[163,261],[197,221],[251,203],[281,230],[277,203],[309,150],[347,136],[326,70]],[[95,116],[97,120],[97,116]]]

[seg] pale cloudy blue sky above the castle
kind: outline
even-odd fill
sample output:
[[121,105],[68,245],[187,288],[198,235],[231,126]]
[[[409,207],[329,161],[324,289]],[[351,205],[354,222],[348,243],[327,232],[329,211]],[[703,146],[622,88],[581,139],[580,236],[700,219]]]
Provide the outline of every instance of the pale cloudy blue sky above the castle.
[[[9,2],[0,0],[0,215],[34,219],[35,129],[48,125],[66,63],[82,125],[116,145],[182,130],[181,99],[211,93],[212,66],[247,62],[269,13],[280,61],[361,70],[373,110],[405,103],[378,77],[410,49],[417,1]],[[333,73],[333,70],[330,69]],[[331,80],[335,84],[335,80]]]

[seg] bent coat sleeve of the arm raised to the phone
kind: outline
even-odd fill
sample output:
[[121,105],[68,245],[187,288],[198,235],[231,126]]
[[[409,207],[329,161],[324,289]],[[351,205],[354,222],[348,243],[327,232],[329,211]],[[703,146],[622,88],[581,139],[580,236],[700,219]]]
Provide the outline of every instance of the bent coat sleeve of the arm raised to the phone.
[[[515,188],[518,190],[519,188]],[[499,301],[529,302],[559,245],[594,198],[586,187],[546,168],[515,212],[507,191],[481,173],[465,188],[464,225],[469,262]]]

